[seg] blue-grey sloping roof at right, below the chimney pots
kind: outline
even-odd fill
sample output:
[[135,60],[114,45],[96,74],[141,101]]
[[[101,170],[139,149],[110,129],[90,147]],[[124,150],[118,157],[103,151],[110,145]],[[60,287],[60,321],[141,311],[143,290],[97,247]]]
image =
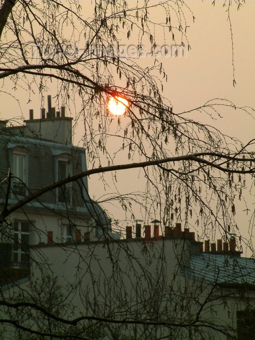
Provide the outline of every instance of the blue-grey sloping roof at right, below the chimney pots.
[[255,285],[255,260],[217,254],[191,255],[190,268],[184,268],[182,273],[209,284]]

